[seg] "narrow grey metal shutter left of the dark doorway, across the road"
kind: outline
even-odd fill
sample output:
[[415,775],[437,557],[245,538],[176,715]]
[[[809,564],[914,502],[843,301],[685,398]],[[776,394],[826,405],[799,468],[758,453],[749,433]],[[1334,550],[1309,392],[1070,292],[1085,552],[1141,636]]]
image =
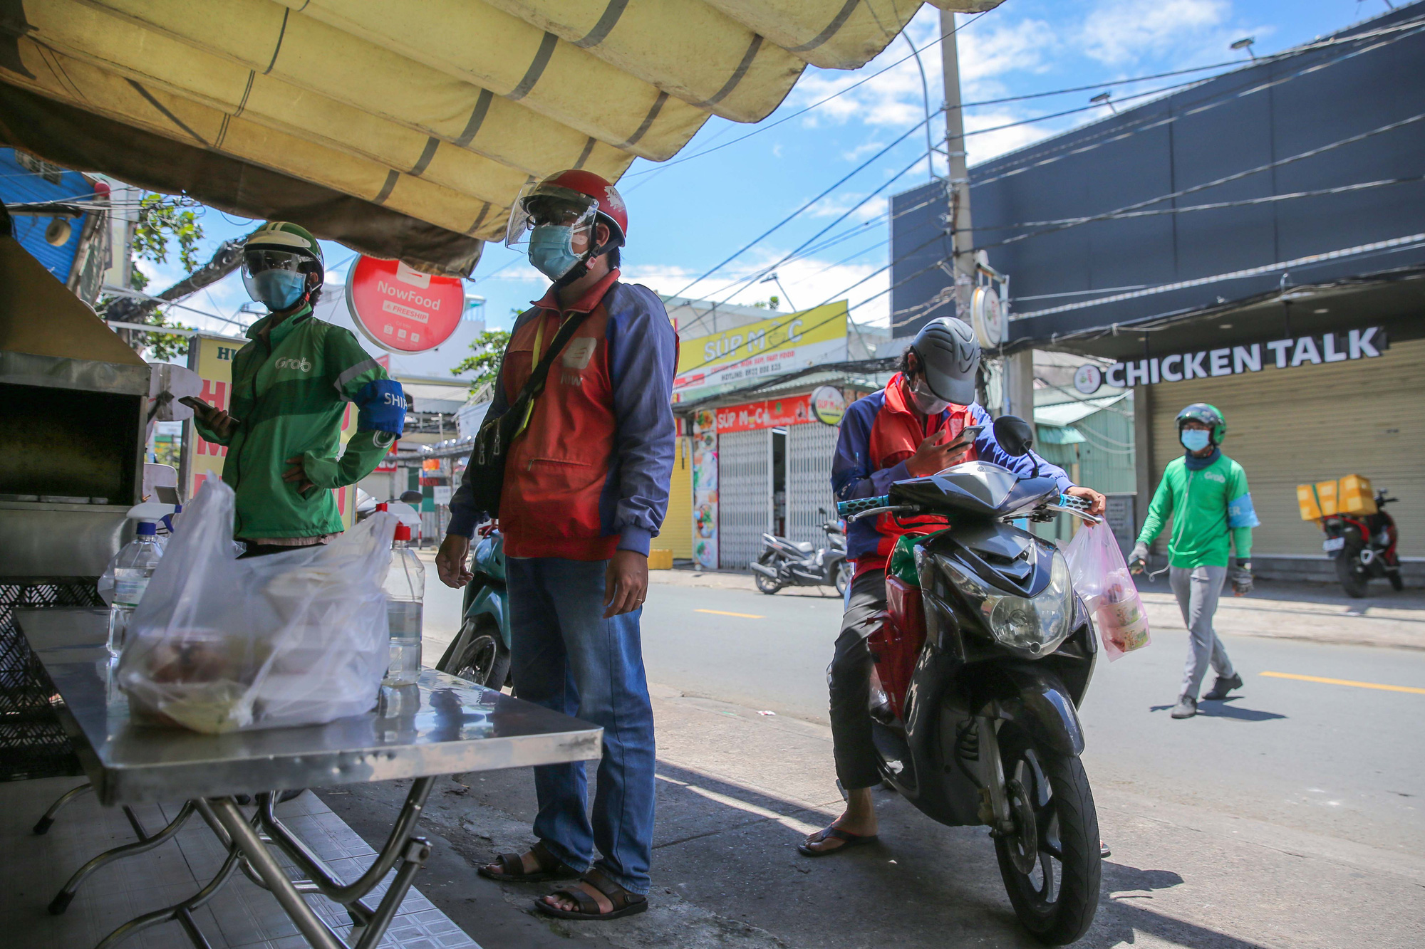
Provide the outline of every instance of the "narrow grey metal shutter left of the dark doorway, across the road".
[[747,570],[771,522],[771,429],[720,435],[717,465],[718,566]]

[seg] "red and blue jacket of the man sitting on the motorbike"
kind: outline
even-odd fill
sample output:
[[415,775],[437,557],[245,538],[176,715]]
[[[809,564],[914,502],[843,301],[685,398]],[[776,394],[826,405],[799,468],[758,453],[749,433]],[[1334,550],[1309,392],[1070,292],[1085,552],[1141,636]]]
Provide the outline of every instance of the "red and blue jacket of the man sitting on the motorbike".
[[[966,462],[990,462],[1019,474],[1030,474],[1037,460],[1039,473],[1054,477],[1059,490],[1073,487],[1062,467],[1037,455],[1035,460],[1007,455],[995,440],[989,412],[979,405],[952,405],[938,416],[921,416],[909,402],[903,378],[898,372],[885,389],[858,399],[846,409],[836,439],[836,457],[831,465],[831,490],[838,502],[876,497],[885,494],[892,483],[915,477],[905,463],[921,442],[945,429],[949,429],[945,440],[953,442],[969,425],[983,425],[985,429],[975,439]],[[885,567],[902,534],[923,534],[945,526],[940,519],[916,520],[915,524],[896,524],[889,514],[881,514],[874,520],[852,522],[846,531],[846,559],[856,563],[856,573]]]

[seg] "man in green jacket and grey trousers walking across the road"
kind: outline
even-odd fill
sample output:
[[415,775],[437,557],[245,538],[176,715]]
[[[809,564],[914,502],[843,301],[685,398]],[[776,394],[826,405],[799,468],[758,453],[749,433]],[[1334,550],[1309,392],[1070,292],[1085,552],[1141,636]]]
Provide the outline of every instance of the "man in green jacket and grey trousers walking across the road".
[[[1129,557],[1129,570],[1143,573],[1149,544],[1171,514],[1168,580],[1188,634],[1187,665],[1173,718],[1197,714],[1197,693],[1208,664],[1217,681],[1203,698],[1220,701],[1243,687],[1227,647],[1213,628],[1213,614],[1228,576],[1234,596],[1251,593],[1251,529],[1260,522],[1247,490],[1247,472],[1223,455],[1220,446],[1226,436],[1227,419],[1216,406],[1194,402],[1177,413],[1177,437],[1184,455],[1168,462],[1163,472],[1139,543]],[[1228,546],[1235,550],[1235,564],[1228,557]]]

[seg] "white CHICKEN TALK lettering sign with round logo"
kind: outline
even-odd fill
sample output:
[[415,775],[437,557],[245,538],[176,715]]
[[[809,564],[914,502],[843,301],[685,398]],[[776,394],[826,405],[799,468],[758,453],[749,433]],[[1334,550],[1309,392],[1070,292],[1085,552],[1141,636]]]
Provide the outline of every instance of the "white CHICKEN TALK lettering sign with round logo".
[[1099,366],[1084,365],[1079,366],[1074,373],[1073,385],[1079,392],[1092,395],[1103,383],[1127,388],[1235,376],[1264,369],[1294,369],[1297,366],[1349,362],[1351,359],[1375,359],[1388,346],[1389,339],[1385,331],[1379,326],[1369,326],[1345,333],[1291,336],[1245,346],[1220,346],[1173,353],[1171,356],[1130,359],[1116,362],[1102,370]]

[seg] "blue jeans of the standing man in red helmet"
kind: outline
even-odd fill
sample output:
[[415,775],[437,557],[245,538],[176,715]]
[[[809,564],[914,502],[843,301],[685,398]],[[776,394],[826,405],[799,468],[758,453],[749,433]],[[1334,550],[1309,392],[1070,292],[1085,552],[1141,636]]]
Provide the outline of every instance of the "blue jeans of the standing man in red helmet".
[[593,822],[584,762],[534,768],[534,836],[584,872],[594,846],[606,876],[648,892],[653,858],[653,704],[643,671],[643,610],[604,616],[607,560],[509,557],[510,663],[516,694],[603,727]]

